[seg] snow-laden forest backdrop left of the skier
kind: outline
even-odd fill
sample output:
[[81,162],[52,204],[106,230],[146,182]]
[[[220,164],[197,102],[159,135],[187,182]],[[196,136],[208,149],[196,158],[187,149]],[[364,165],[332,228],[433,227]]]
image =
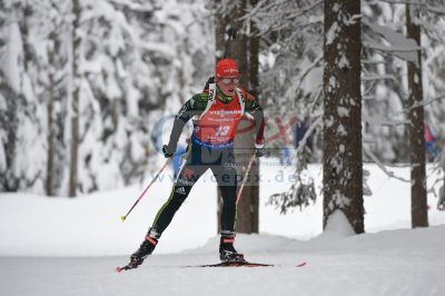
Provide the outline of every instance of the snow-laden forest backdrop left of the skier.
[[152,126],[176,112],[211,72],[214,45],[204,38],[211,36],[211,21],[204,18],[202,2],[78,2],[76,33],[82,41],[75,85],[71,1],[1,2],[1,190],[46,187],[68,194],[73,86],[79,86],[77,191],[144,178],[148,165],[156,169]]

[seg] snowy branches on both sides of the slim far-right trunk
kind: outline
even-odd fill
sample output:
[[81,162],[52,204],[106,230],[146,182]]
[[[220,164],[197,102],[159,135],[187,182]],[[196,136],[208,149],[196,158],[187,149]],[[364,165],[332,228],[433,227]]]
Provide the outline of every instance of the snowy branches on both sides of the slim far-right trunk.
[[[441,58],[443,51],[442,18],[437,12],[441,1],[419,4],[416,22],[422,27],[422,56],[425,120],[439,137],[443,130],[443,78]],[[435,2],[435,3],[434,3]],[[434,4],[434,8],[432,7]],[[417,6],[417,4],[415,4]],[[364,32],[364,121],[365,150],[382,161],[408,161],[406,61],[416,59],[419,47],[405,37],[405,2],[374,1],[363,6]],[[366,157],[368,159],[368,152]],[[429,156],[433,159],[434,156]]]

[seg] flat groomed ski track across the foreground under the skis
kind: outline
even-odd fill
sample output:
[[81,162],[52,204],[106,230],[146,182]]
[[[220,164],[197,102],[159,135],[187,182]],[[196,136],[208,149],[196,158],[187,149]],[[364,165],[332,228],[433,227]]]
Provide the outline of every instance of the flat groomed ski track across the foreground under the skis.
[[[389,255],[389,256],[388,256]],[[445,266],[434,256],[380,254],[249,256],[277,267],[181,267],[212,262],[202,256],[158,255],[118,274],[126,257],[1,258],[1,295],[441,295]],[[443,258],[443,257],[442,257]]]

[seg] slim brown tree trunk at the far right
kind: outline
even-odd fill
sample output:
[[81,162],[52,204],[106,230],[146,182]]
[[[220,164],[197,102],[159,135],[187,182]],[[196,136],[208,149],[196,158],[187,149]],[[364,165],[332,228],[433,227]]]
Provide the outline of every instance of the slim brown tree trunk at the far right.
[[[413,22],[418,18],[418,7],[406,4],[406,28],[408,38],[421,46],[421,27]],[[422,86],[422,52],[417,62],[408,61],[408,106],[409,106],[409,160],[411,160],[411,217],[412,226],[427,227],[424,107]],[[413,108],[415,105],[419,107]]]

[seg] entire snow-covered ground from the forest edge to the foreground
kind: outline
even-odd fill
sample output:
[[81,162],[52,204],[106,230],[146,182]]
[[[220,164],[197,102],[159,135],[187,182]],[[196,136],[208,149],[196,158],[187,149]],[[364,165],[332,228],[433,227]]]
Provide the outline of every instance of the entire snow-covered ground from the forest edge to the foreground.
[[[260,234],[236,241],[247,259],[275,264],[261,268],[185,267],[218,262],[210,174],[192,189],[156,255],[122,274],[113,268],[140,244],[168,195],[168,175],[125,223],[119,217],[146,184],[75,199],[2,194],[0,295],[443,295],[445,213],[436,210],[437,198],[428,196],[432,227],[412,230],[409,185],[375,166],[366,169],[374,194],[365,197],[367,234],[334,227],[320,235],[320,199],[286,216],[265,206],[270,194],[288,188],[291,171],[265,162]],[[407,169],[394,171],[408,178]],[[320,167],[310,172],[319,186]],[[307,265],[295,267],[301,262]]]

